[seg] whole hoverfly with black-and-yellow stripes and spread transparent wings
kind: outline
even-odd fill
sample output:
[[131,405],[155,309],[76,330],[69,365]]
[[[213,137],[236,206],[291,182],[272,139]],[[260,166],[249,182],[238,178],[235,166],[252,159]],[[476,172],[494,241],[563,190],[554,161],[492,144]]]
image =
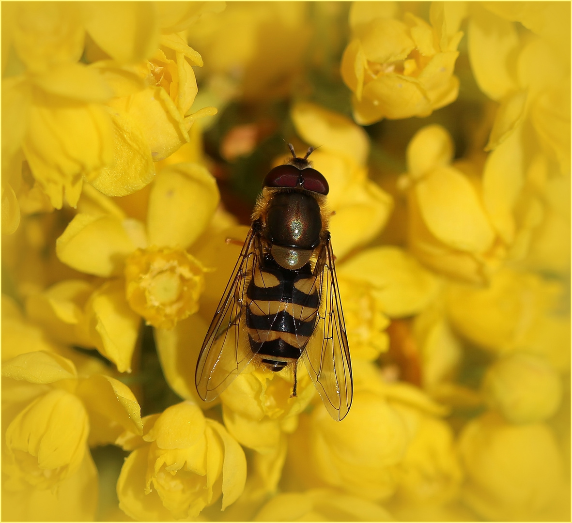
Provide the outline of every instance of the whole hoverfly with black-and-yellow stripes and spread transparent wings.
[[[271,169],[231,279],[198,356],[195,383],[215,399],[250,363],[291,367],[301,359],[332,418],[352,402],[348,339],[325,208],[328,182],[308,156]],[[312,338],[314,343],[309,343]]]

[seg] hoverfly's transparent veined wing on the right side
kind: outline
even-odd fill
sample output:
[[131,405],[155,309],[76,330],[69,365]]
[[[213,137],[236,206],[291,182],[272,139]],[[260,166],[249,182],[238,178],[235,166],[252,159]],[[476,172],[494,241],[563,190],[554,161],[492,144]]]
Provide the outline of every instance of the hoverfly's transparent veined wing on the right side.
[[329,414],[340,421],[352,403],[352,367],[329,240],[320,252],[316,270],[320,307],[313,338],[302,352],[302,360]]

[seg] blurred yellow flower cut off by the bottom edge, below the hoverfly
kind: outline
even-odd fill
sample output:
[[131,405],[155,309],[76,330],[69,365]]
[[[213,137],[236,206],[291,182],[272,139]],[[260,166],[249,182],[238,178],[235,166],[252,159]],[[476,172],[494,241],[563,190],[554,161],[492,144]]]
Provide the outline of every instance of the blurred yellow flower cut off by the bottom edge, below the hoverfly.
[[371,501],[328,489],[278,494],[253,521],[394,521]]

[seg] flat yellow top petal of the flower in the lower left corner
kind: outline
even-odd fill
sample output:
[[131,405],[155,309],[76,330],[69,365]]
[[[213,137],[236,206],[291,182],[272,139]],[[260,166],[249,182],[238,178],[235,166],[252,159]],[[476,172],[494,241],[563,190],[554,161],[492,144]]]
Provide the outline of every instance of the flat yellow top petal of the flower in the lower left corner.
[[74,364],[54,352],[28,352],[2,363],[2,376],[30,383],[53,383],[77,377]]

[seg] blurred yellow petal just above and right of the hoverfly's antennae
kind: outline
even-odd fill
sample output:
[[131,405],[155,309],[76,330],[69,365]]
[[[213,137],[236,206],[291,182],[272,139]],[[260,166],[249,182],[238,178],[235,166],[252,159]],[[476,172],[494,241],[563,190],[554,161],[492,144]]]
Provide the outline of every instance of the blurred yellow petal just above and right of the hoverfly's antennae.
[[[349,118],[308,102],[299,102],[291,110],[297,134],[308,144],[324,152],[347,156],[365,165],[370,153],[367,133]],[[301,151],[298,152],[301,155]]]

